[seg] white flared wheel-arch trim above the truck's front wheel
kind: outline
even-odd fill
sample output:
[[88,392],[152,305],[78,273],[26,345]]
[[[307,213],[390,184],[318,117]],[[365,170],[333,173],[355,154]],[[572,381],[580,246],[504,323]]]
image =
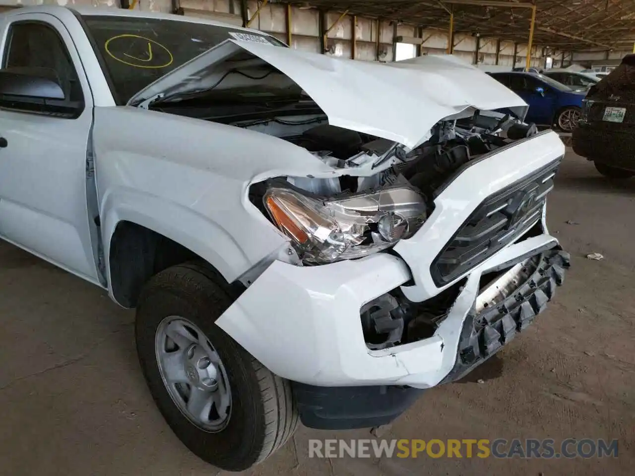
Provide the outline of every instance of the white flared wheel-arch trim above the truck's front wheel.
[[113,190],[104,197],[100,216],[109,283],[112,282],[110,242],[120,221],[142,225],[177,242],[208,261],[227,282],[234,281],[239,270],[251,266],[248,257],[222,226],[208,216],[162,197],[137,190]]

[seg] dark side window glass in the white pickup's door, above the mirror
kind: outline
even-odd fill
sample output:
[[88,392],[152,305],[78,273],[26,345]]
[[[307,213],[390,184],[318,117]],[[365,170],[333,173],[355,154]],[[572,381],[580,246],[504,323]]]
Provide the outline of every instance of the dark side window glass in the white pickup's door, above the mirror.
[[53,27],[41,22],[13,23],[6,44],[4,71],[51,79],[61,86],[65,102],[83,103],[77,71]]

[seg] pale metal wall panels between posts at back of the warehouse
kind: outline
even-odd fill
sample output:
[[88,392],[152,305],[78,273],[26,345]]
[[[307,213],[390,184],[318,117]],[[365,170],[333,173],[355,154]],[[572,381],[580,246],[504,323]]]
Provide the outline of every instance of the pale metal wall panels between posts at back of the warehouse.
[[[7,6],[58,4],[58,5],[85,5],[85,6],[110,6],[116,8],[119,0],[0,0]],[[185,15],[194,17],[213,18],[232,25],[242,25],[243,19],[240,11],[239,0],[180,0],[178,2],[184,9]],[[251,18],[258,10],[257,0],[248,0],[248,17]],[[1,6],[0,6],[1,8]],[[139,0],[136,6],[139,10],[152,10],[170,12],[171,0]],[[253,20],[251,28],[268,32],[286,43],[286,4],[269,3],[260,10],[260,15]],[[338,12],[327,12],[325,17],[325,29],[333,25],[338,18]],[[353,22],[355,21],[355,26]],[[446,25],[439,25],[439,30],[424,30],[422,38],[422,54],[443,54],[448,48],[448,33],[443,30]],[[398,25],[395,28],[392,22],[377,22],[370,18],[345,15],[340,22],[328,33],[326,41],[326,54],[352,57],[352,34],[355,34],[355,59],[364,61],[392,61],[394,58],[394,36],[416,37],[417,27],[413,25]],[[395,35],[396,33],[396,35]],[[379,38],[377,38],[379,35]],[[379,41],[377,41],[379,40]],[[464,58],[467,62],[474,63],[478,58],[481,65],[494,65],[496,63],[495,39],[481,38],[479,53],[475,54],[476,36],[469,34],[455,34],[454,54]],[[299,50],[321,52],[320,39],[320,12],[314,8],[291,7],[291,45]],[[514,44],[501,42],[498,64],[512,66],[514,58]],[[413,51],[414,48],[413,48]],[[540,57],[540,48],[533,51],[531,65],[544,66],[544,58]],[[518,45],[516,66],[524,66],[526,57],[526,45]],[[558,51],[554,54],[554,67],[559,67],[561,55]]]

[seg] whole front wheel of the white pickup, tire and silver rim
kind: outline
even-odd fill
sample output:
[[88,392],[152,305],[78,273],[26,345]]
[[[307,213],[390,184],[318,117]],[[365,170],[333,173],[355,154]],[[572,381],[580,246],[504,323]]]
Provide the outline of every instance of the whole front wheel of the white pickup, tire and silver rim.
[[241,471],[281,447],[298,414],[290,383],[215,324],[232,301],[210,269],[168,268],[142,291],[135,334],[148,387],[173,432],[204,461]]

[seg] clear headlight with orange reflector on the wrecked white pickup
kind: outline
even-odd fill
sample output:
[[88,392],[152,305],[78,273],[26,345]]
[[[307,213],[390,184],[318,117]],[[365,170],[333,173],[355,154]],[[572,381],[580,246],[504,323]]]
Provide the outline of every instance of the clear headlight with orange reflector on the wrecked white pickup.
[[306,263],[332,263],[376,253],[413,235],[425,221],[424,197],[392,187],[340,199],[313,199],[290,188],[264,196],[272,220]]

